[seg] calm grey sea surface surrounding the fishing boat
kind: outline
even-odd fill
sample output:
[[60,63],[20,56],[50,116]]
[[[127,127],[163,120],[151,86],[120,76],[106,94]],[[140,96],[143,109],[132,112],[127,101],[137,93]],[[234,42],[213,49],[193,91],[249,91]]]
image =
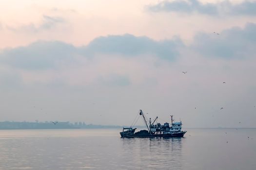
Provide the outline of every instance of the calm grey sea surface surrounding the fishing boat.
[[0,130],[0,170],[256,170],[256,129],[187,130],[182,138]]

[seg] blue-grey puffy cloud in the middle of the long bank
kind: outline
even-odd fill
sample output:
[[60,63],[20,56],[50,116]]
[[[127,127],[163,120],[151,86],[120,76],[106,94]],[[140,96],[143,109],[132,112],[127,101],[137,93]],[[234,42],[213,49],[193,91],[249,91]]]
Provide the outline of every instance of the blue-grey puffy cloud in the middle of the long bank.
[[84,50],[90,54],[115,53],[126,56],[154,54],[162,59],[174,60],[178,55],[177,47],[179,46],[182,46],[179,38],[155,41],[146,36],[137,37],[124,34],[98,37],[90,42]]

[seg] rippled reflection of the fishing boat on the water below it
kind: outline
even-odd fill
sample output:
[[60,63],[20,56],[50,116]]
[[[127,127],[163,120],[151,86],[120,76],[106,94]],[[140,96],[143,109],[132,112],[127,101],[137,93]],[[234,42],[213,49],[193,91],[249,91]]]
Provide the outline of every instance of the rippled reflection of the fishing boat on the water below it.
[[138,169],[182,170],[182,142],[185,137],[120,138],[122,164]]

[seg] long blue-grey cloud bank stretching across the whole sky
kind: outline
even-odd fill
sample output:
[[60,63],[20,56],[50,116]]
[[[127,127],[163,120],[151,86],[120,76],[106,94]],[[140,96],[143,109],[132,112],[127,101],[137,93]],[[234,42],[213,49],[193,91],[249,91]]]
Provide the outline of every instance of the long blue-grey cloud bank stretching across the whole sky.
[[[119,54],[123,57],[154,55],[174,62],[179,50],[190,49],[205,57],[246,58],[256,52],[256,24],[234,27],[217,34],[197,34],[190,46],[180,39],[155,41],[130,34],[98,37],[87,46],[75,47],[59,41],[38,41],[25,47],[3,49],[0,63],[27,70],[54,69],[62,63],[75,62],[76,56],[92,58],[97,54]],[[111,56],[108,56],[111,57]]]

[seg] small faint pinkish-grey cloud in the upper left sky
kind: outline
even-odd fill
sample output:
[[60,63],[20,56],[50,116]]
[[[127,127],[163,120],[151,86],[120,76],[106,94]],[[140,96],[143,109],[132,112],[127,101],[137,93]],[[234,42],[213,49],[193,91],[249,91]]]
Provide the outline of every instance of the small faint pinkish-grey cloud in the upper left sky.
[[6,26],[6,28],[10,31],[14,32],[28,32],[28,33],[38,33],[44,30],[50,30],[56,27],[60,23],[65,23],[65,19],[63,17],[52,17],[43,15],[42,21],[39,25],[35,23],[24,24],[18,27]]

